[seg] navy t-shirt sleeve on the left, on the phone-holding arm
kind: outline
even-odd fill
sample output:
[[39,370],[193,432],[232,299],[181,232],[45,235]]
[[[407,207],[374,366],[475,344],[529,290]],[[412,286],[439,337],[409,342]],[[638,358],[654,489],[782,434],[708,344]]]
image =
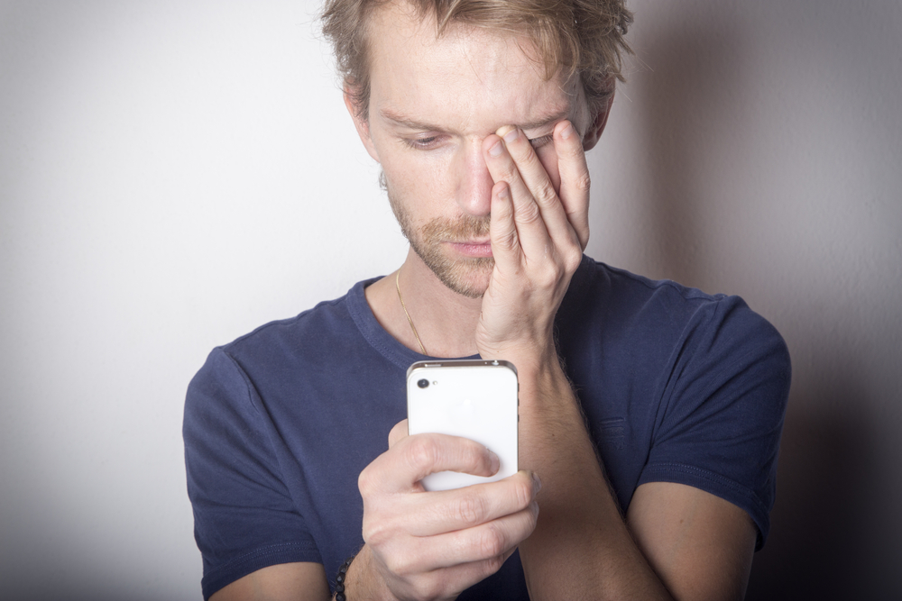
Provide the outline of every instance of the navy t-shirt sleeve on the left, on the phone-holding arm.
[[205,599],[257,569],[322,562],[281,478],[272,433],[249,378],[214,350],[191,380],[183,426]]

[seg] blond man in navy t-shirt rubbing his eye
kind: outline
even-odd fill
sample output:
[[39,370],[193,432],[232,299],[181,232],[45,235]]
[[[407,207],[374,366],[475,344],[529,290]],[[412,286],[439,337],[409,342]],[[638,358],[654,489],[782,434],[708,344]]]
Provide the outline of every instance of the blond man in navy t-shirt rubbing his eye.
[[[327,4],[345,103],[410,253],[217,349],[192,381],[205,597],[744,595],[786,347],[736,297],[582,256],[584,150],[629,22],[619,0]],[[498,464],[407,435],[405,369],[477,354],[518,369],[521,470],[425,492],[428,473]]]

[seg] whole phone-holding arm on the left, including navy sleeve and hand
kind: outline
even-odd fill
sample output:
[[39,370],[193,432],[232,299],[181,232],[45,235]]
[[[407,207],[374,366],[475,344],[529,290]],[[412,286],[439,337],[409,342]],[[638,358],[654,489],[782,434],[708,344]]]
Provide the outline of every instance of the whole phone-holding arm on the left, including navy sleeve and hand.
[[[211,353],[189,387],[189,495],[198,546],[207,553],[226,534],[230,542],[255,538],[251,549],[260,549],[260,541],[313,549],[279,477],[255,394],[222,351]],[[483,445],[439,434],[407,436],[401,422],[389,446],[358,479],[366,544],[347,574],[349,599],[454,598],[500,568],[535,527],[538,485],[528,472],[456,491],[426,492],[419,485],[426,474],[444,469],[491,476],[498,459]],[[267,519],[253,524],[234,511],[260,506]],[[236,579],[211,598],[327,598],[327,576],[335,575],[309,560],[313,553],[297,551],[274,556],[271,567]]]

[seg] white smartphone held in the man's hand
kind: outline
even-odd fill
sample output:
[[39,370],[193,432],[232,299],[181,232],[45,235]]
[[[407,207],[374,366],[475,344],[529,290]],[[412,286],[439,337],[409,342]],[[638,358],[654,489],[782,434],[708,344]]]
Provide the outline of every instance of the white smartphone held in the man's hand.
[[517,473],[517,369],[500,360],[418,361],[407,370],[408,432],[463,436],[501,460],[494,476],[440,471],[423,478],[427,490],[494,482]]

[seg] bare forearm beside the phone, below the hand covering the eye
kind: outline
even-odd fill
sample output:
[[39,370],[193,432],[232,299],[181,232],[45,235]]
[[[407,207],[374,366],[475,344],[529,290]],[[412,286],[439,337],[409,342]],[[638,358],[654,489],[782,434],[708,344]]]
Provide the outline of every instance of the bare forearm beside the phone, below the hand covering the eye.
[[520,461],[542,478],[536,530],[520,543],[533,601],[669,599],[633,542],[557,357],[520,373]]

